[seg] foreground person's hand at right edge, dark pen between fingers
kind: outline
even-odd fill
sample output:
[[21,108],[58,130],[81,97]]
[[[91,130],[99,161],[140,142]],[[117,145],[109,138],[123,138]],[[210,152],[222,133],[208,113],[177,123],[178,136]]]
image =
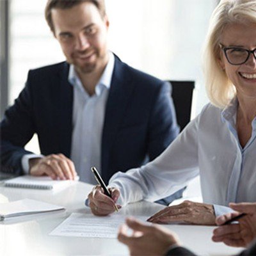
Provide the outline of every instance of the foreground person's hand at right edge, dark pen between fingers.
[[237,220],[238,223],[214,229],[212,240],[223,242],[229,246],[245,247],[256,237],[256,203],[229,204],[229,206],[237,212],[219,216],[216,219],[217,225],[223,225],[225,221],[243,212],[247,215]]

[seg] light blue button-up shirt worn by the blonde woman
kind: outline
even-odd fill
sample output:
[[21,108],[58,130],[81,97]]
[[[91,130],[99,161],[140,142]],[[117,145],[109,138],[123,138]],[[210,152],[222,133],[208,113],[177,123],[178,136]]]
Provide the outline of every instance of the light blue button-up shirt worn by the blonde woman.
[[[200,175],[203,200],[216,216],[229,202],[256,202],[256,118],[244,148],[236,131],[237,99],[221,109],[207,104],[175,141],[151,163],[118,172],[109,186],[120,189],[118,204],[156,201]],[[221,205],[225,205],[223,207]]]

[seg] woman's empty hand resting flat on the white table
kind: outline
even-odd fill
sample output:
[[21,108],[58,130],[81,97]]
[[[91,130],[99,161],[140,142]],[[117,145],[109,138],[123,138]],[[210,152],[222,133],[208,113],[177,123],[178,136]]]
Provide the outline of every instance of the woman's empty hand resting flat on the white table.
[[184,201],[168,206],[148,219],[155,223],[184,222],[200,225],[215,225],[214,209],[211,204]]

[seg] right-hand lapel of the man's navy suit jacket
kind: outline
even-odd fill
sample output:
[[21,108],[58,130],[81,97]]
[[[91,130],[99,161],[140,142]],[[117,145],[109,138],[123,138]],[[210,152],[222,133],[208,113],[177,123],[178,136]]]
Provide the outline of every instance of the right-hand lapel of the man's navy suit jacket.
[[109,89],[109,96],[106,104],[104,126],[102,131],[101,147],[101,169],[102,176],[109,180],[108,166],[111,147],[115,140],[116,132],[124,118],[127,103],[132,95],[134,85],[131,83],[131,77],[127,74],[126,65],[115,56],[115,67]]

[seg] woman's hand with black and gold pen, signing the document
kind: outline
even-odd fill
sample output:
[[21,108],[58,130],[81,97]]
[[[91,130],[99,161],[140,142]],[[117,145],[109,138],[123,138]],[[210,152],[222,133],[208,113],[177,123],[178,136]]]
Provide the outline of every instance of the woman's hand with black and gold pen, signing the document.
[[116,188],[107,188],[106,184],[102,180],[95,167],[92,167],[93,175],[99,183],[95,186],[92,192],[88,195],[90,200],[89,206],[95,215],[108,215],[114,211],[118,211],[121,208],[120,205],[116,205],[120,192]]

